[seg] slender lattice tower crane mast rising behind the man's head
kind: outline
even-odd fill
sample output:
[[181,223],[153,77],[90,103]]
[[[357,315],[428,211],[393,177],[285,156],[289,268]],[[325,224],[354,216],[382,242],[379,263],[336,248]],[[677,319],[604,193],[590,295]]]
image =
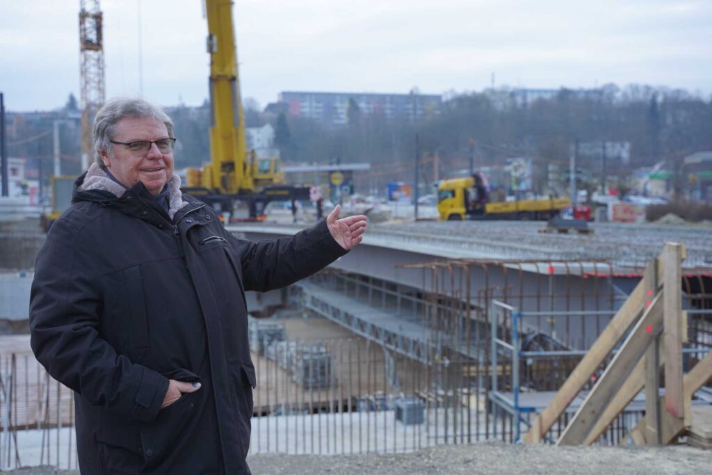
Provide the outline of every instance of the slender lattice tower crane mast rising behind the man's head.
[[79,2],[80,88],[82,105],[82,169],[94,150],[92,123],[105,100],[103,14],[99,0]]

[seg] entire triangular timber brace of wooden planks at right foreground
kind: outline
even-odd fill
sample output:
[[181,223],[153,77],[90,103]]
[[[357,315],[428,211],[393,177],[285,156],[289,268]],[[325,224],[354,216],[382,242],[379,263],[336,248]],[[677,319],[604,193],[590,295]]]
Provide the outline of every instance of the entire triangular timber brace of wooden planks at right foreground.
[[[624,338],[603,374],[557,440],[592,444],[643,389],[646,416],[625,437],[633,444],[671,444],[691,424],[691,399],[712,378],[712,353],[684,375],[682,345],[687,315],[682,310],[681,262],[685,247],[668,243],[644,278],[604,328],[548,407],[535,417],[524,440],[541,442],[582,387]],[[661,369],[664,396],[659,396]]]

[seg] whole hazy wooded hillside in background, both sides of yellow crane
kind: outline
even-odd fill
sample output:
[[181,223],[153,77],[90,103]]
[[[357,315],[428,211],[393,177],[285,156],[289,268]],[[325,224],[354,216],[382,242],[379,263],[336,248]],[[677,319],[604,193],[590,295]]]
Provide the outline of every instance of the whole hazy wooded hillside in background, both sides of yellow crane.
[[[64,110],[76,111],[70,98]],[[516,90],[501,88],[482,93],[449,93],[439,115],[413,123],[367,115],[350,104],[347,125],[323,125],[284,113],[263,113],[254,100],[245,100],[246,125],[270,122],[276,145],[285,162],[370,162],[372,176],[384,180],[412,179],[415,136],[423,160],[437,155],[439,169],[429,169],[424,179],[447,177],[468,167],[471,151],[476,164],[499,165],[507,157],[531,157],[535,167],[567,167],[572,145],[580,142],[629,142],[635,169],[667,160],[676,167],[691,152],[712,149],[712,100],[685,90],[646,85],[604,85],[595,91],[561,89],[553,98],[525,102]],[[199,166],[209,161],[210,108],[184,105],[167,108],[175,122],[177,167]],[[58,111],[56,111],[58,112]],[[61,115],[61,114],[60,114]],[[11,155],[51,155],[51,136],[23,143],[51,128],[47,120],[17,120]],[[63,126],[62,153],[78,155],[78,127]],[[68,135],[75,135],[74,140]],[[471,148],[471,139],[474,148]],[[75,160],[73,160],[75,161]],[[431,168],[434,160],[430,160]],[[580,167],[600,172],[598,160],[582,157]],[[427,166],[424,168],[428,170]],[[622,164],[609,164],[623,174]],[[380,187],[382,180],[374,179]]]

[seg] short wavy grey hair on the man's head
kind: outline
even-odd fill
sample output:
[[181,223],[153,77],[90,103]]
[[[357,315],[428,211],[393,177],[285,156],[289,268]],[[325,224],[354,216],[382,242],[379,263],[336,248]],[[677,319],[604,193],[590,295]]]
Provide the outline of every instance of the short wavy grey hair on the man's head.
[[125,117],[152,117],[160,120],[165,124],[168,136],[173,137],[173,121],[158,105],[140,98],[111,98],[94,117],[94,160],[102,169],[104,161],[101,160],[99,152],[111,153],[111,137],[116,124]]

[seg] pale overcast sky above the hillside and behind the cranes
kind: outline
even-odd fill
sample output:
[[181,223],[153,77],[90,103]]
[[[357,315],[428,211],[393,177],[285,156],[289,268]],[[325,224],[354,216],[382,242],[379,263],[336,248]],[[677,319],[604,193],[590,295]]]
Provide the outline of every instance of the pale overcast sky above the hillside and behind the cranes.
[[[202,103],[201,3],[101,0],[107,96]],[[79,98],[78,9],[78,0],[0,0],[6,108]],[[497,86],[712,93],[709,0],[236,0],[233,12],[242,93],[262,107],[283,90],[462,93],[489,87],[493,74]]]

